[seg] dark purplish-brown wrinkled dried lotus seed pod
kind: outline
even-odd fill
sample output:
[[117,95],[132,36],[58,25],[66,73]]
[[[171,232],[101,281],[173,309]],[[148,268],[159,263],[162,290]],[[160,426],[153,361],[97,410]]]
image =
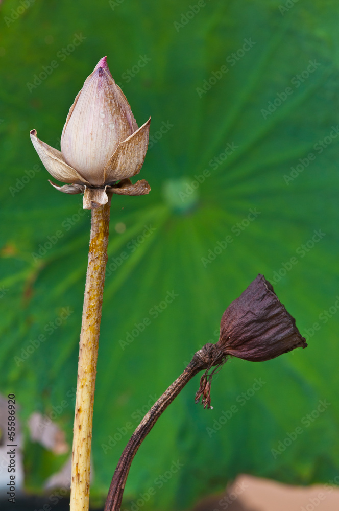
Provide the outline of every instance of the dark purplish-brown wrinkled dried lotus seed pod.
[[250,361],[270,360],[307,346],[295,319],[261,274],[224,312],[216,344],[225,355]]

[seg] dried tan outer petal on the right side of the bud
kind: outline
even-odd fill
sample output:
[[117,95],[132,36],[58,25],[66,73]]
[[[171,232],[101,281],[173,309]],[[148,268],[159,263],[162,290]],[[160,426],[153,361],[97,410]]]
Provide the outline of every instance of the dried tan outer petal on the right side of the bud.
[[120,142],[107,162],[104,172],[106,184],[135,176],[143,165],[149,141],[151,118],[124,142]]

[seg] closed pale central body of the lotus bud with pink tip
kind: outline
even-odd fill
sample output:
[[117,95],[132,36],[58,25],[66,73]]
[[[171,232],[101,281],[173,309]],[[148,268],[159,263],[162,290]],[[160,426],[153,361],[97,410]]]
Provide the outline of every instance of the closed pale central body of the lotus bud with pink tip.
[[105,165],[119,142],[138,129],[125,95],[106,67],[97,66],[86,79],[61,136],[65,161],[94,186],[104,184]]

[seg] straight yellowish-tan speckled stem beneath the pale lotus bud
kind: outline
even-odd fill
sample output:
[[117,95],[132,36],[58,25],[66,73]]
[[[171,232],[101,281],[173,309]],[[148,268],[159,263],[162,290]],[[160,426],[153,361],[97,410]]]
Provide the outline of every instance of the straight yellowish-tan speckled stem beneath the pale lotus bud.
[[73,430],[70,511],[88,511],[96,360],[107,263],[110,198],[92,209]]

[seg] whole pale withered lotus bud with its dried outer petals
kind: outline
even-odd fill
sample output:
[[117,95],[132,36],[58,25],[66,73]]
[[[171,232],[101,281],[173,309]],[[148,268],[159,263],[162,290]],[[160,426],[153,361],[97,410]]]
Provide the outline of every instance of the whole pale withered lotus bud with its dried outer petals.
[[146,156],[150,120],[138,128],[104,57],[69,109],[61,151],[39,140],[36,130],[30,134],[47,171],[59,181],[71,183],[62,187],[51,184],[64,193],[84,193],[84,208],[90,209],[105,204],[107,193],[149,193],[147,181],[133,185],[129,178],[140,171]]

